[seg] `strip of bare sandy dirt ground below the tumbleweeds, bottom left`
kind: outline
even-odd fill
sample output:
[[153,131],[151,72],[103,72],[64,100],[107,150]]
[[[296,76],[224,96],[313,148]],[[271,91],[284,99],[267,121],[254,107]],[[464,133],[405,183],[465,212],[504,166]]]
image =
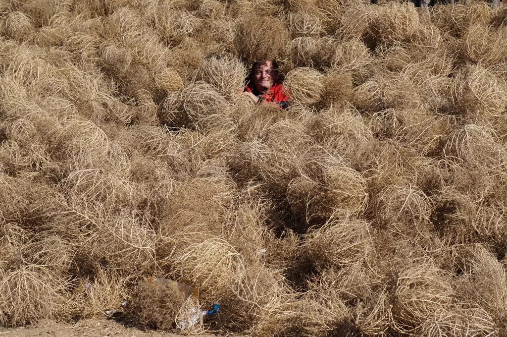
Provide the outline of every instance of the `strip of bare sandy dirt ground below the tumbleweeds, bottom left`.
[[[114,320],[86,319],[75,324],[44,321],[32,326],[18,328],[0,327],[0,337],[180,337],[181,334],[166,331],[141,331],[137,328],[126,327]],[[231,334],[208,333],[198,337],[224,337]],[[240,335],[234,335],[241,337]],[[244,335],[243,335],[244,337]]]

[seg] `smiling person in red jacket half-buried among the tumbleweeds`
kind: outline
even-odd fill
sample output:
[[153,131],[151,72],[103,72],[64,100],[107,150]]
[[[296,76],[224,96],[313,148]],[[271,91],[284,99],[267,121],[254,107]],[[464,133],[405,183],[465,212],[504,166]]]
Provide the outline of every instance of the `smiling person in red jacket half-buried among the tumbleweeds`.
[[272,60],[253,63],[243,94],[256,103],[268,102],[282,109],[289,105],[289,96],[279,81],[278,65]]

